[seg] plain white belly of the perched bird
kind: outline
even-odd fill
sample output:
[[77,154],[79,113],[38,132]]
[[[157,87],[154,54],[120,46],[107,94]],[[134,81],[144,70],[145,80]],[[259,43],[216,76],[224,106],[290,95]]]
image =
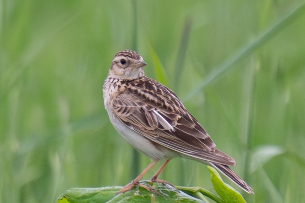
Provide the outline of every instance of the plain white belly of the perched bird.
[[166,149],[165,147],[160,149],[160,147],[153,145],[152,142],[145,138],[143,135],[140,135],[131,128],[128,128],[114,115],[112,110],[107,109],[107,113],[113,127],[129,144],[131,144],[139,152],[149,156],[154,160],[171,159],[175,157],[175,153],[172,150]]

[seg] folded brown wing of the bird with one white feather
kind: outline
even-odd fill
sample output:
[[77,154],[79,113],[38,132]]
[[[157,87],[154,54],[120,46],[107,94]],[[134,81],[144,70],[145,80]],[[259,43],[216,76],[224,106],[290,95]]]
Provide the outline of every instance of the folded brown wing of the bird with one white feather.
[[[235,165],[233,158],[216,149],[216,145],[185,109],[178,97],[165,86],[155,91],[134,88],[113,100],[115,115],[129,128],[157,144],[195,159]],[[162,89],[160,89],[162,88]]]

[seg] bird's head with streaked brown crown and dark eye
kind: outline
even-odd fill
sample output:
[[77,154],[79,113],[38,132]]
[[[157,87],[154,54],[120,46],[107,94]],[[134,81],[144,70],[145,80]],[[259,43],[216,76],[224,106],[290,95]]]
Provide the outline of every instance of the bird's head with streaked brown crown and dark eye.
[[137,79],[144,76],[143,66],[147,65],[135,51],[120,51],[113,57],[108,77],[118,79]]

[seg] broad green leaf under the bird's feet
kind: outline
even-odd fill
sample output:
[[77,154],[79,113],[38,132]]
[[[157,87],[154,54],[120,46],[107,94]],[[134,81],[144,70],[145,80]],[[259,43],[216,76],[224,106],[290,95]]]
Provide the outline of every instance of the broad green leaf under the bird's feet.
[[118,194],[122,187],[100,187],[100,188],[71,188],[61,195],[57,203],[114,203],[114,202],[193,202],[205,203],[205,201],[194,198],[174,187],[150,181],[140,181],[140,184],[149,187],[147,191],[141,186]]

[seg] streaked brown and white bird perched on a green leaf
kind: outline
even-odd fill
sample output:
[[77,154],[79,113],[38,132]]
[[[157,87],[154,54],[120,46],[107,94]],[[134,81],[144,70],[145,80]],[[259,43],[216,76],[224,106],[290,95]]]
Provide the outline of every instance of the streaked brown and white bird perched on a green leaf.
[[177,95],[145,76],[143,67],[146,65],[137,52],[120,51],[114,55],[103,84],[104,105],[113,127],[136,150],[152,159],[149,166],[118,194],[139,185],[144,174],[160,160],[165,161],[151,181],[166,184],[157,177],[175,157],[212,166],[242,190],[254,194],[253,189],[229,167],[235,166],[235,160],[216,148],[209,134]]

